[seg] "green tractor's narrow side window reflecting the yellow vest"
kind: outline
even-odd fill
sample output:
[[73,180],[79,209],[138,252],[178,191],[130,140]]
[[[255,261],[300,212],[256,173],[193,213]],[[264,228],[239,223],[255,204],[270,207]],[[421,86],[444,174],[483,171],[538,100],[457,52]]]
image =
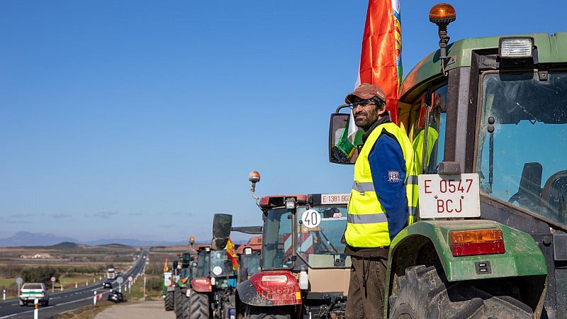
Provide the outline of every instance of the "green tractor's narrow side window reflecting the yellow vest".
[[[425,96],[422,96],[420,99],[421,103],[417,104],[417,106],[425,105],[425,103],[430,103],[431,106],[429,107],[427,141],[425,140],[427,108],[420,107],[419,116],[414,122],[414,128],[412,129],[414,134],[412,145],[415,152],[415,164],[420,172],[424,172],[425,174],[437,174],[439,162],[443,160],[445,144],[447,85],[441,86],[439,89],[433,91],[430,102],[425,101]],[[427,147],[425,142],[427,142]],[[425,160],[423,159],[424,157]]]

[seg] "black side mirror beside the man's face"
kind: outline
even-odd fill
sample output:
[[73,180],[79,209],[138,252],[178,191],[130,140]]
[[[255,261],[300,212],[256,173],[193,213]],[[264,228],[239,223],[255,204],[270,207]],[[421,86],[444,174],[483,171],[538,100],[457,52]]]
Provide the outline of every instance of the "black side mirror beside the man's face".
[[358,148],[357,136],[355,135],[354,141],[349,139],[349,113],[338,113],[340,108],[348,106],[339,106],[337,113],[331,114],[329,125],[329,162],[335,164],[354,164],[357,162]]

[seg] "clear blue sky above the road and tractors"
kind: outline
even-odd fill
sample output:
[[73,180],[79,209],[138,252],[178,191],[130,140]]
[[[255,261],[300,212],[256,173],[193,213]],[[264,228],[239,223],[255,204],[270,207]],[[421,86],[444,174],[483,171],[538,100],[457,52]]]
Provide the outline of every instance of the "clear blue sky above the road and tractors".
[[[407,74],[436,1],[401,0]],[[567,31],[563,1],[452,1],[451,40]],[[329,116],[357,78],[366,1],[0,1],[0,237],[211,235],[257,192],[346,192]],[[485,10],[485,12],[483,12]]]

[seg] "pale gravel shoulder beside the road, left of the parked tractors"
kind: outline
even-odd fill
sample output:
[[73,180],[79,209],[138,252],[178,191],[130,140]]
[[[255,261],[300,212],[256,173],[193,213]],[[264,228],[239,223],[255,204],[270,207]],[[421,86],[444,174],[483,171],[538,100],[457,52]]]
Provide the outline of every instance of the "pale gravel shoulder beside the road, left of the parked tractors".
[[173,311],[164,310],[163,301],[140,301],[131,304],[118,304],[98,313],[94,319],[116,319],[116,318],[175,318]]

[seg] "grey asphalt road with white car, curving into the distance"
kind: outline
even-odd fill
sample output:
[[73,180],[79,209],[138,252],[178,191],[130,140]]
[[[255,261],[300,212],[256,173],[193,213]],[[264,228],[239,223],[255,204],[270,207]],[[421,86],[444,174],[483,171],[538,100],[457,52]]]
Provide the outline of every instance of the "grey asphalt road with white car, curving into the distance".
[[[121,286],[128,284],[128,276],[137,276],[142,272],[147,259],[147,250],[142,251],[136,263],[128,272],[122,275],[123,283]],[[118,289],[118,281],[113,281],[113,289]],[[39,306],[39,318],[51,318],[52,315],[72,310],[82,306],[91,305],[93,303],[94,292],[96,296],[102,295],[106,300],[110,289],[102,288],[102,281],[89,286],[83,286],[78,289],[63,291],[60,293],[50,293],[49,305],[47,307]],[[19,306],[18,300],[0,301],[0,319],[29,319],[33,318],[33,306]]]

